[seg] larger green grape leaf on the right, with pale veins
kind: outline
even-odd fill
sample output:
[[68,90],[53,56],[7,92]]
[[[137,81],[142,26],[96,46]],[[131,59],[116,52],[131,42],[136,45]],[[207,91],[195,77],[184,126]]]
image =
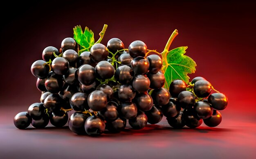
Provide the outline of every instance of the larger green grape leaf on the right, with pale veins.
[[187,48],[187,46],[182,46],[167,53],[167,64],[164,63],[162,67],[166,79],[164,84],[166,89],[169,89],[171,82],[175,79],[188,83],[189,76],[187,74],[195,73],[195,61],[184,55]]

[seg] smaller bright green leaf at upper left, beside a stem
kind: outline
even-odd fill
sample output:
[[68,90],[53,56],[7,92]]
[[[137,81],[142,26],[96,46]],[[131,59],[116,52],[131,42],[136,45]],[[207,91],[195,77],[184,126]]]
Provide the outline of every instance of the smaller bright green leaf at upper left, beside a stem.
[[74,30],[74,39],[76,43],[80,45],[81,49],[84,51],[90,51],[90,48],[94,44],[94,33],[92,30],[86,26],[83,32],[81,26],[75,26]]

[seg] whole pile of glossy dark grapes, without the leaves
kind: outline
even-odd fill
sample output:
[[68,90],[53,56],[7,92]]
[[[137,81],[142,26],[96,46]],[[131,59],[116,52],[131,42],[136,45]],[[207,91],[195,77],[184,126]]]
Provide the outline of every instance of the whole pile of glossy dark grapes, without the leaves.
[[168,91],[161,55],[147,52],[143,41],[133,41],[125,49],[118,38],[84,52],[73,38],[65,38],[59,50],[45,48],[43,60],[31,65],[42,93],[40,102],[18,113],[15,126],[44,128],[50,122],[62,127],[68,123],[76,134],[100,135],[123,131],[127,120],[133,129],[143,129],[147,123],[160,122],[163,115],[173,128],[195,128],[202,120],[208,126],[220,124],[217,110],[227,107],[224,94],[211,94],[211,83],[202,77],[188,84],[174,80]]

